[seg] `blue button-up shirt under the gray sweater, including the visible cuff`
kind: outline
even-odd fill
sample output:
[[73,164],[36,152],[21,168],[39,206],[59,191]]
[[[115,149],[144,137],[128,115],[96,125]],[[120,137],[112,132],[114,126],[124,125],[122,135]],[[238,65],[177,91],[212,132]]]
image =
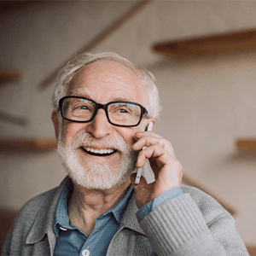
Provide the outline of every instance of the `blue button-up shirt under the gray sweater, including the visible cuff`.
[[[132,186],[128,189],[125,197],[119,201],[119,204],[100,217],[96,218],[94,230],[90,236],[86,236],[82,230],[69,224],[67,202],[73,190],[71,180],[67,183],[66,189],[61,193],[55,212],[55,250],[54,256],[63,255],[81,255],[81,256],[99,256],[106,255],[110,241],[119,228],[121,219],[125,213],[125,208],[130,200],[133,191]],[[183,192],[179,188],[170,189],[166,193],[149,202],[137,212],[137,218],[140,222],[155,207],[163,202],[181,195]]]

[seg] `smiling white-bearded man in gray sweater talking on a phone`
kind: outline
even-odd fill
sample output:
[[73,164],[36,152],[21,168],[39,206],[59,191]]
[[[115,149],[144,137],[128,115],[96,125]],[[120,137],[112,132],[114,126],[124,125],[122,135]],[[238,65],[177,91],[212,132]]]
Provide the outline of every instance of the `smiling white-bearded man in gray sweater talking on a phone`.
[[[52,121],[67,177],[21,209],[3,255],[248,255],[234,219],[182,186],[172,144],[152,131],[154,77],[113,53],[63,68]],[[149,160],[155,181],[137,168]]]

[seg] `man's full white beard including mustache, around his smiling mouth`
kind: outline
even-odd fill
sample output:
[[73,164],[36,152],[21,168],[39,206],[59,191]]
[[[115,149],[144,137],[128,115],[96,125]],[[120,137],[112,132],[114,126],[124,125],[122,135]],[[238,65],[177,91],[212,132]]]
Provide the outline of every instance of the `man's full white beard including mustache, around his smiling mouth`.
[[[125,143],[124,138],[118,132],[102,139],[96,139],[90,133],[80,131],[68,145],[63,142],[61,134],[58,139],[57,152],[61,156],[63,166],[73,182],[86,189],[103,190],[119,186],[125,183],[136,169],[138,153],[131,151],[131,147]],[[82,165],[78,158],[78,149],[81,146],[115,148],[121,153],[120,163],[116,168],[113,168],[108,165],[108,161],[104,164],[97,164],[84,157]]]

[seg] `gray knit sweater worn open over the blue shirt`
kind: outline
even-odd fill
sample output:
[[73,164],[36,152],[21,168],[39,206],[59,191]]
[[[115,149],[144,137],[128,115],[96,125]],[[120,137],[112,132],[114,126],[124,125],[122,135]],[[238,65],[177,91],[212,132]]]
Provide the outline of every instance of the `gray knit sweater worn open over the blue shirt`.
[[[4,242],[3,256],[53,255],[55,209],[67,179],[22,207]],[[230,214],[201,190],[182,189],[183,195],[155,208],[140,224],[132,195],[107,255],[248,255]]]

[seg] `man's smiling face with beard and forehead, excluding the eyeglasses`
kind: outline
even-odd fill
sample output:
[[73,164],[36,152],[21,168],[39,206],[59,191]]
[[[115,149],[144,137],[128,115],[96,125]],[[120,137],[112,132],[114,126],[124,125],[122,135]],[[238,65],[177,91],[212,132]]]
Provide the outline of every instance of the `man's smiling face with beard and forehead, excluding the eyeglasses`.
[[[97,61],[79,70],[67,96],[84,96],[105,104],[112,101],[138,102],[144,105],[143,86],[132,71],[114,61]],[[131,152],[136,127],[108,123],[99,109],[89,123],[63,119],[58,151],[75,183],[88,189],[110,189],[125,183],[135,170],[137,154]]]

